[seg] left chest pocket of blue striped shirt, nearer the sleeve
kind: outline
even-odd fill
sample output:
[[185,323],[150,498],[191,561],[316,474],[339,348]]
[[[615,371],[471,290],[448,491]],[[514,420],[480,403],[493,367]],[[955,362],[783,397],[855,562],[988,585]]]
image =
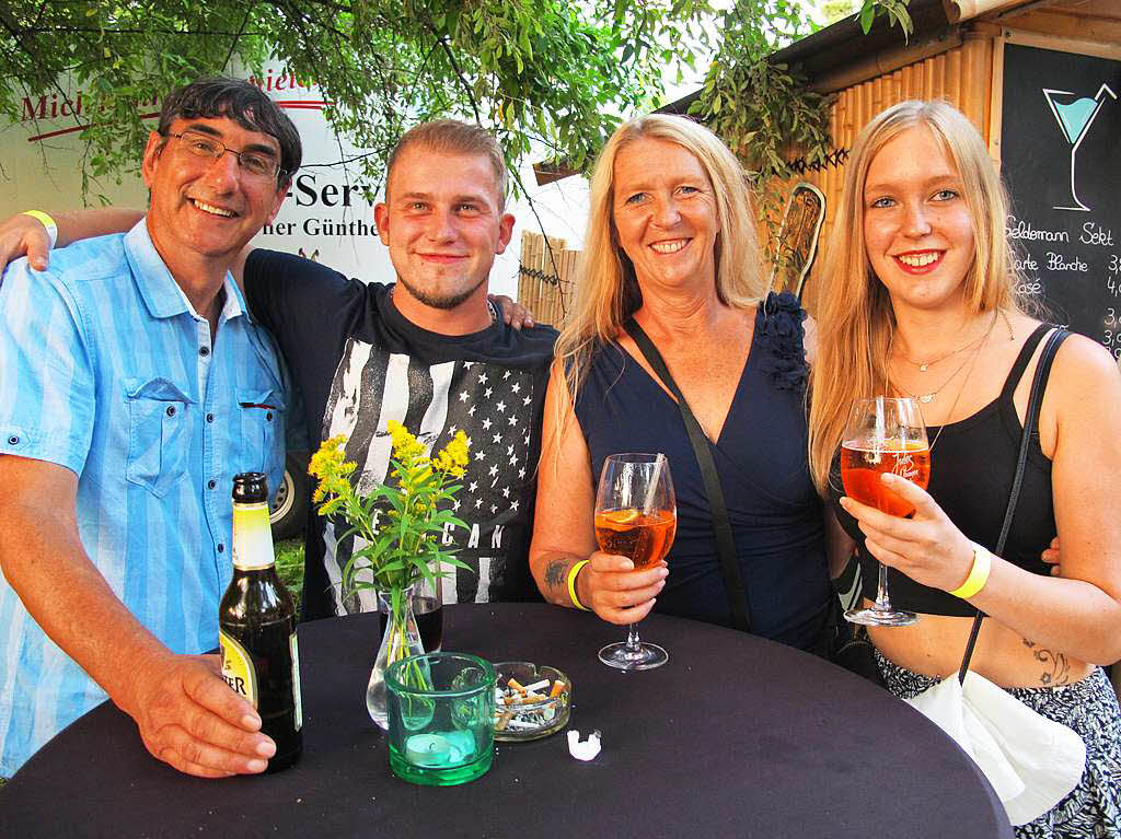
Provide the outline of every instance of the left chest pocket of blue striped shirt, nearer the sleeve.
[[129,408],[126,478],[163,498],[186,472],[187,405],[194,400],[167,379],[124,382]]

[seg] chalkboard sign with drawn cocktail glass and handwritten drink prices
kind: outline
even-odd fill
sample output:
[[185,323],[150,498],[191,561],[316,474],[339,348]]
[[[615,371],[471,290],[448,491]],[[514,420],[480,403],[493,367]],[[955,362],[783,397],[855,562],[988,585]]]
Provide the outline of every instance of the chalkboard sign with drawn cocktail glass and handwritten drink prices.
[[1121,62],[1006,44],[1000,143],[1022,290],[1121,358]]

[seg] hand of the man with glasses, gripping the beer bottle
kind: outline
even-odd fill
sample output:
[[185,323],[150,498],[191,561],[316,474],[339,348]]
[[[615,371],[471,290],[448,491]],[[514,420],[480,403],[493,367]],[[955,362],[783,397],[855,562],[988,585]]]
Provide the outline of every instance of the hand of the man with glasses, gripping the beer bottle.
[[151,755],[179,772],[226,777],[263,772],[276,744],[261,718],[219,674],[216,655],[158,656],[137,673],[131,696],[113,700],[131,716]]

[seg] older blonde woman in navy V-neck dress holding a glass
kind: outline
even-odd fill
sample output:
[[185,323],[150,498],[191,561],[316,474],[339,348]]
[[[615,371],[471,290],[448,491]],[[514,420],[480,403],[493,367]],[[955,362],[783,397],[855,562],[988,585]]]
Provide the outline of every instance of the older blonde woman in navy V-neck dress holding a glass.
[[[731,623],[696,456],[674,398],[624,332],[633,316],[707,437],[752,632],[824,651],[833,593],[806,465],[804,313],[766,288],[729,149],[680,116],[615,131],[592,177],[577,299],[546,397],[530,548],[546,599],[615,624],[654,608]],[[668,455],[678,513],[668,565],[636,571],[596,550],[595,482],[618,451]]]

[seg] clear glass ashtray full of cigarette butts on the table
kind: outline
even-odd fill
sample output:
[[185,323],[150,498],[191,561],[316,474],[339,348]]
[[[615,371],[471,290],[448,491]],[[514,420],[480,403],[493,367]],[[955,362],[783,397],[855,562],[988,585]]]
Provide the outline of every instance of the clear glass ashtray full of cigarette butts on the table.
[[503,661],[494,674],[494,739],[536,740],[568,723],[572,680],[556,668]]

